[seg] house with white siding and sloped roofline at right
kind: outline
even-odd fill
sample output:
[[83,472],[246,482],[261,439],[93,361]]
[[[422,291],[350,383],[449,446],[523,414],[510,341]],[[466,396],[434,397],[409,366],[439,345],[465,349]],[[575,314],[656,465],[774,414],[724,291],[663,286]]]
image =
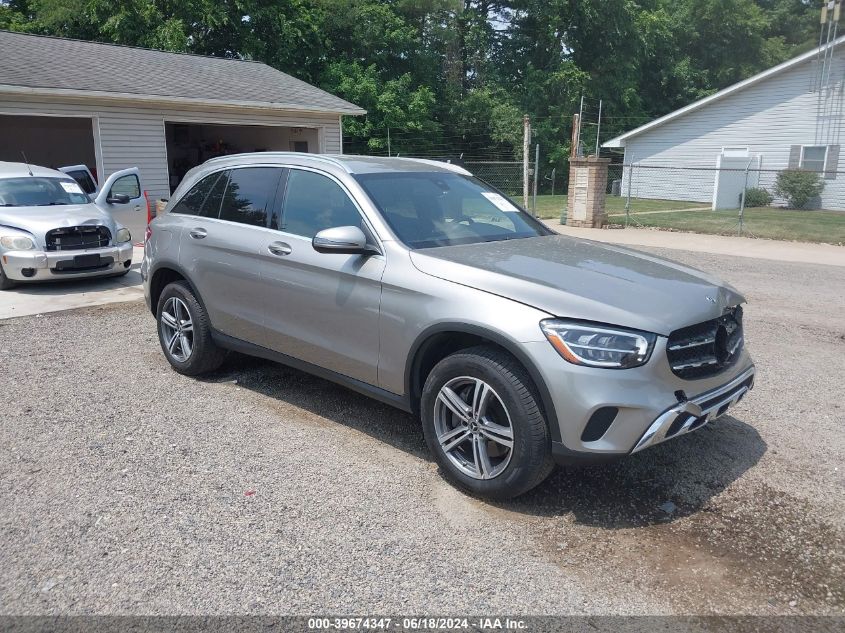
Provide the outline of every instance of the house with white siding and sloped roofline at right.
[[[603,144],[622,148],[632,197],[737,208],[747,187],[774,193],[779,171],[818,172],[814,206],[845,209],[845,37]],[[775,204],[784,204],[775,198]]]

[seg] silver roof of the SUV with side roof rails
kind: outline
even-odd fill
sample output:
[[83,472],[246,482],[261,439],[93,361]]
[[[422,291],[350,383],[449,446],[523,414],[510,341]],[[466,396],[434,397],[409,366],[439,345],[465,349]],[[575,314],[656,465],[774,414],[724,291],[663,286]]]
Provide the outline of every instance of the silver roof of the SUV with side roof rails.
[[303,166],[331,165],[349,174],[379,172],[440,171],[470,175],[463,167],[451,163],[422,158],[386,158],[383,156],[354,156],[350,154],[306,154],[304,152],[252,152],[230,154],[206,161],[203,165],[237,165],[240,163],[283,161]]

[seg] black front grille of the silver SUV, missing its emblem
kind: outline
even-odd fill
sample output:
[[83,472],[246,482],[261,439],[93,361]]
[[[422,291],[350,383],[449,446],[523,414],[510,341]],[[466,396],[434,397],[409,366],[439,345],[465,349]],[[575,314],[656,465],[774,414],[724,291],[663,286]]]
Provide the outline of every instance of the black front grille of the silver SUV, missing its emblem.
[[672,332],[666,356],[676,376],[693,380],[715,376],[730,367],[742,345],[742,307],[736,306],[718,319]]

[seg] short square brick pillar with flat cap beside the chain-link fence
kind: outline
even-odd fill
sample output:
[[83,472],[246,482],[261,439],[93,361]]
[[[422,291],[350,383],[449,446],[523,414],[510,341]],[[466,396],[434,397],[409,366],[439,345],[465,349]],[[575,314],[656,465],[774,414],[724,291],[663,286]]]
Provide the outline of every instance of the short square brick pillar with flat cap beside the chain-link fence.
[[609,164],[609,158],[596,156],[569,159],[567,226],[601,228],[607,224],[605,196]]

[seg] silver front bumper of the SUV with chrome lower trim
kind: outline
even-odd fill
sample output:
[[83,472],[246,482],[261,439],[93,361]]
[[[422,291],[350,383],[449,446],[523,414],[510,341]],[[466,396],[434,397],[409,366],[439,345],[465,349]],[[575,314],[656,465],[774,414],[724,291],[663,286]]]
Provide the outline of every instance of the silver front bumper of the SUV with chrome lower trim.
[[[646,365],[624,370],[573,365],[547,341],[523,343],[523,349],[548,389],[552,454],[558,463],[618,458],[701,428],[724,414],[725,405],[739,401],[755,371],[743,349],[716,376],[679,378],[666,359],[665,337],[658,339]],[[723,397],[714,400],[717,396]],[[607,427],[591,432],[590,421],[608,410]]]

